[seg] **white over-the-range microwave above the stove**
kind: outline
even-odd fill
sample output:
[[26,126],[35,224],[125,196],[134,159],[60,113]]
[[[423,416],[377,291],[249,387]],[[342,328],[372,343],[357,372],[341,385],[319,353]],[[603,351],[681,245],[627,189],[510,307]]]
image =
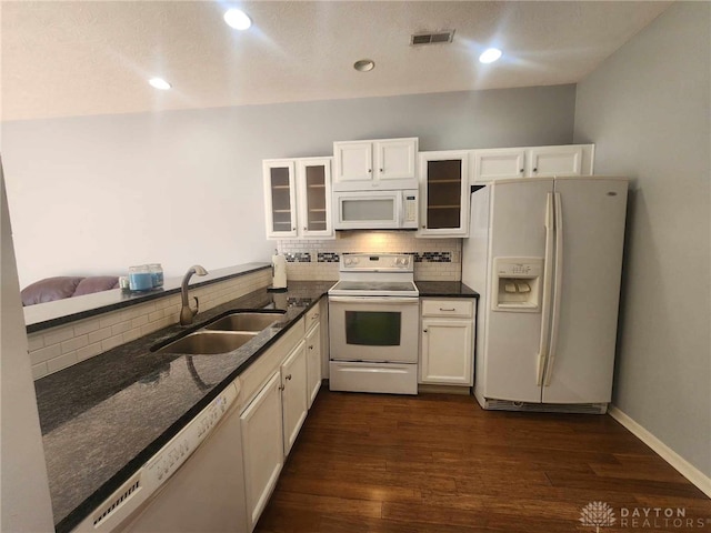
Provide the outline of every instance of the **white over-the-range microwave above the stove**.
[[337,230],[417,230],[417,189],[333,192]]

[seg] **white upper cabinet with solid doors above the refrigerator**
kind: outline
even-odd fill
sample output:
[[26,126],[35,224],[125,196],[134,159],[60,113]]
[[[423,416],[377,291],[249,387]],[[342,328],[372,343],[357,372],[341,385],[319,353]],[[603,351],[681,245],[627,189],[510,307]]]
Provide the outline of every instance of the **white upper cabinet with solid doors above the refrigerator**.
[[591,175],[594,144],[473,150],[472,183],[511,178]]

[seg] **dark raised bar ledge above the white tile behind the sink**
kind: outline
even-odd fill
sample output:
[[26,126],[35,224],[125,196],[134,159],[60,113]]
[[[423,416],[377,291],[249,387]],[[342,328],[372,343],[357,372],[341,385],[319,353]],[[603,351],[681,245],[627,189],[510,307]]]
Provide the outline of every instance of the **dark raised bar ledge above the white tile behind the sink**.
[[[236,268],[221,269],[214,272],[214,278],[210,278],[206,281],[199,281],[200,278],[192,278],[192,283],[190,283],[190,289],[196,289],[199,286],[211,285],[213,283],[219,283],[221,281],[227,281],[232,278],[239,278],[242,275],[251,274],[253,272],[259,272],[260,270],[266,270],[271,268],[268,263],[251,263],[248,265],[241,265]],[[82,319],[89,319],[91,316],[97,316],[99,314],[108,313],[110,311],[116,311],[118,309],[128,308],[131,305],[138,305],[141,303],[150,302],[151,300],[157,300],[163,296],[170,296],[172,294],[180,294],[180,283],[172,282],[172,285],[169,289],[158,289],[154,291],[149,291],[146,293],[131,293],[121,291],[120,289],[112,289],[117,293],[119,300],[114,303],[109,303],[107,305],[100,305],[98,308],[86,309],[83,311],[78,311],[69,314],[64,314],[61,316],[42,320],[39,322],[33,322],[27,326],[28,333],[36,333],[38,331],[47,330],[49,328],[56,328],[58,325],[68,324],[70,322],[76,322]]]

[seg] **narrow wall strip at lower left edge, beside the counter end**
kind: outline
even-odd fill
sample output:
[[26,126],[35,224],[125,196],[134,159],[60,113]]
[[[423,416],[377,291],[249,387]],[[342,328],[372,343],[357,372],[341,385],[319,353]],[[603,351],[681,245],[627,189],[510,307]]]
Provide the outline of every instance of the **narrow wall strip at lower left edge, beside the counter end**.
[[0,161],[0,531],[54,531]]

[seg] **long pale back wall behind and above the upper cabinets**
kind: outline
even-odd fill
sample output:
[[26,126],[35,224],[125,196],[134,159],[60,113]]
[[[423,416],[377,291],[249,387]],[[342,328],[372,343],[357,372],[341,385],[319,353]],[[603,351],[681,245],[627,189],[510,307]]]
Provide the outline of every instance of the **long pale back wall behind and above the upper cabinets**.
[[421,150],[564,144],[574,86],[19,121],[2,152],[21,286],[269,259],[261,160],[419,137]]

